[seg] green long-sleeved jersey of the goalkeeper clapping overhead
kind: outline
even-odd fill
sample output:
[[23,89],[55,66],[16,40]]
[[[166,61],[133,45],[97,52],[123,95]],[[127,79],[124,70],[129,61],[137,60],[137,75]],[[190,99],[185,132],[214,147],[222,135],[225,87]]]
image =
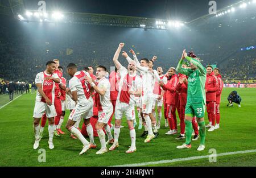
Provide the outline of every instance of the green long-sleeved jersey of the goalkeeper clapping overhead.
[[205,104],[205,81],[207,71],[196,59],[188,56],[186,59],[197,67],[195,71],[181,67],[183,59],[180,59],[179,64],[177,65],[177,72],[188,76],[187,102],[191,104],[204,102]]

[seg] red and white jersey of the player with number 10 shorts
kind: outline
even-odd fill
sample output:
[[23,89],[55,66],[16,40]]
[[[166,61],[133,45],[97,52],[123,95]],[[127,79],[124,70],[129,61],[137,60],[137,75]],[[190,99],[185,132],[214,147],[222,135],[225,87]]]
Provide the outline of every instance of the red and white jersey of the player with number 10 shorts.
[[107,78],[103,77],[98,80],[98,88],[104,88],[106,90],[105,94],[101,96],[100,94],[95,94],[95,102],[98,107],[98,111],[108,111],[113,109],[112,102],[110,100],[110,82]]

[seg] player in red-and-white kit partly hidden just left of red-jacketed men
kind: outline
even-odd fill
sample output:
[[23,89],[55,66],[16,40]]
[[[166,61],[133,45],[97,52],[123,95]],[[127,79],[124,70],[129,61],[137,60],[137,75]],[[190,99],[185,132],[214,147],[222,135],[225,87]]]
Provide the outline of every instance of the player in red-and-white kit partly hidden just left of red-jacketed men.
[[[163,75],[163,68],[162,67],[158,67],[156,70],[158,71],[160,81],[164,82],[164,84],[167,84],[167,77]],[[164,90],[159,85],[159,82],[155,81],[155,86],[154,86],[154,103],[153,103],[153,108],[152,108],[152,114],[156,118],[155,106],[158,106],[158,125],[157,125],[158,129],[160,129],[160,125],[161,125],[163,95],[164,95]]]

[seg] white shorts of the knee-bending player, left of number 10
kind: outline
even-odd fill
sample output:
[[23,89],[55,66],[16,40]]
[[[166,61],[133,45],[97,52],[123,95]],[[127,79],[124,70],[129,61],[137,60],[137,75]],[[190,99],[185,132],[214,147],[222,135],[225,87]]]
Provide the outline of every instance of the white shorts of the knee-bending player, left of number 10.
[[93,117],[93,99],[90,97],[88,101],[84,103],[77,103],[75,109],[72,110],[68,119],[72,121],[79,121],[79,119],[89,119]]

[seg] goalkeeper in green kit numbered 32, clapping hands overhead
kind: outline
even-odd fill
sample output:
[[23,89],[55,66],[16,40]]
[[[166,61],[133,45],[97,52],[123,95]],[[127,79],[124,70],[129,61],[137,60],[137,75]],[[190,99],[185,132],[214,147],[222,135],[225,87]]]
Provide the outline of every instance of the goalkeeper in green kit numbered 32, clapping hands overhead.
[[[187,59],[191,63],[191,69],[182,68],[183,60]],[[197,151],[203,151],[205,148],[205,81],[207,71],[200,63],[199,58],[193,52],[189,52],[188,55],[183,50],[182,57],[177,65],[177,72],[188,76],[188,94],[187,104],[185,106],[185,143],[177,148],[191,148],[191,136],[192,136],[192,118],[196,116],[199,123],[200,130],[200,146]]]

